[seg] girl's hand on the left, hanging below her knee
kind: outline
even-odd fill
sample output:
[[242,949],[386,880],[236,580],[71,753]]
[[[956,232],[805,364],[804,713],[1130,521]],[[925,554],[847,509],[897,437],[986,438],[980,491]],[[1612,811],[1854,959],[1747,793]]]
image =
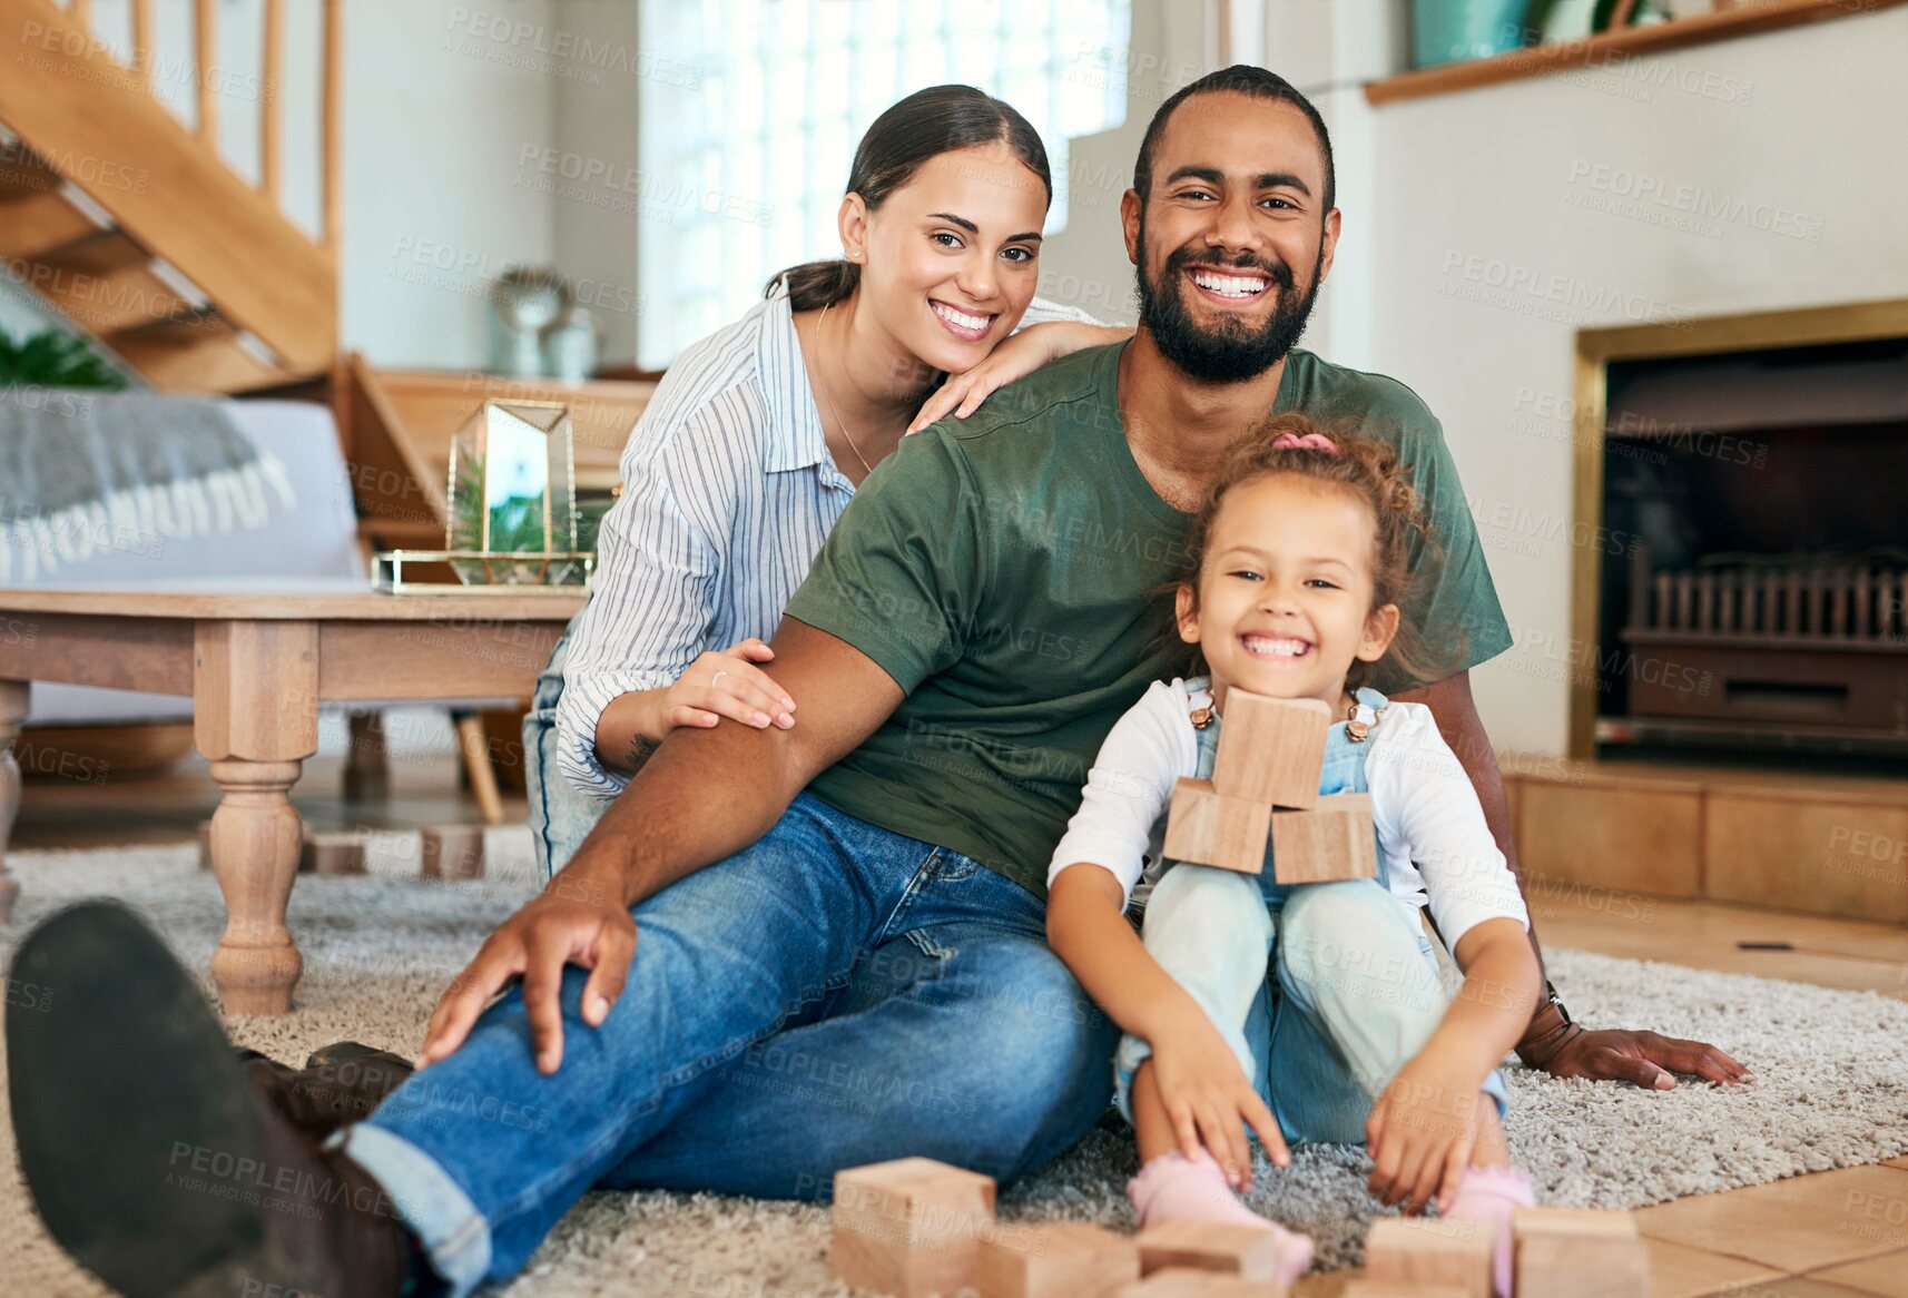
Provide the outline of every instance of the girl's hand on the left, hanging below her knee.
[[1259,1134],[1276,1166],[1292,1162],[1278,1119],[1204,1015],[1152,1042],[1152,1082],[1166,1103],[1179,1151],[1187,1159],[1196,1159],[1202,1147],[1212,1151],[1234,1189],[1252,1183],[1252,1145],[1246,1143],[1244,1124]]

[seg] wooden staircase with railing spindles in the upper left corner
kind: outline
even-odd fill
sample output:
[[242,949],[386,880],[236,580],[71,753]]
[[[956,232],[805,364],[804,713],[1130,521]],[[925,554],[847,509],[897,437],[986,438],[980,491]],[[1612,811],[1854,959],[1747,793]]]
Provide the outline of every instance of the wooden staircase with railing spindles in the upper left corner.
[[279,206],[284,0],[263,4],[259,185],[218,153],[218,0],[195,0],[197,124],[151,94],[153,10],[134,61],[90,34],[88,0],[0,0],[0,260],[166,391],[248,391],[338,359],[340,0],[324,2],[322,242]]

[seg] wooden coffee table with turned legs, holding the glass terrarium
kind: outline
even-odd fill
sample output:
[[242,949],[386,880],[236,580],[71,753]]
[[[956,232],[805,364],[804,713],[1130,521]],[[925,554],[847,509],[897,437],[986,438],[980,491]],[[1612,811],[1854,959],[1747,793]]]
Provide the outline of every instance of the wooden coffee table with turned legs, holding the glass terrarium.
[[288,794],[319,748],[319,704],[529,697],[582,603],[582,592],[403,597],[340,582],[0,590],[0,918],[19,893],[4,851],[27,683],[191,695],[193,743],[223,790],[212,981],[227,1012],[290,1012],[303,960],[284,905],[303,827]]

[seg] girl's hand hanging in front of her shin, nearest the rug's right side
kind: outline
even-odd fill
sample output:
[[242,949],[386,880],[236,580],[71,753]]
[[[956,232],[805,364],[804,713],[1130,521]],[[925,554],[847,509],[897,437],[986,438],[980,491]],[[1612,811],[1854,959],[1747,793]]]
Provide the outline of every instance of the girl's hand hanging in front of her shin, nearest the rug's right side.
[[1433,1195],[1448,1203],[1477,1145],[1483,1078],[1423,1050],[1399,1069],[1364,1122],[1370,1191],[1418,1214]]

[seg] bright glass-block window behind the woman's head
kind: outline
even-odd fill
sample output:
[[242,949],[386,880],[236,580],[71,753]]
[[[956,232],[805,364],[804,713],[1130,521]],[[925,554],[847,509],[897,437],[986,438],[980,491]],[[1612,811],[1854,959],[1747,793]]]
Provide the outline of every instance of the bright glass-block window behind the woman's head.
[[643,292],[637,359],[660,368],[761,298],[778,269],[841,254],[836,208],[862,132],[895,99],[967,82],[1047,147],[1126,116],[1131,0],[643,0]]

